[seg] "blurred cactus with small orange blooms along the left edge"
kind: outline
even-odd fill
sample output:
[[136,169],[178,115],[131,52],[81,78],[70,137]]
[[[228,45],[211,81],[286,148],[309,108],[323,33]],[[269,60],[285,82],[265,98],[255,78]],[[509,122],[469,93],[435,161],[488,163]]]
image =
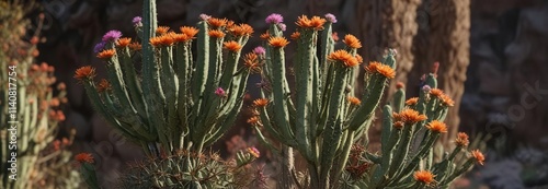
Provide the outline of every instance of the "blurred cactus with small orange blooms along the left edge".
[[44,15],[36,32],[27,34],[24,16],[32,8],[0,2],[0,188],[78,188],[67,150],[75,133],[56,139],[65,120],[65,84],[54,85],[54,67],[35,63]]

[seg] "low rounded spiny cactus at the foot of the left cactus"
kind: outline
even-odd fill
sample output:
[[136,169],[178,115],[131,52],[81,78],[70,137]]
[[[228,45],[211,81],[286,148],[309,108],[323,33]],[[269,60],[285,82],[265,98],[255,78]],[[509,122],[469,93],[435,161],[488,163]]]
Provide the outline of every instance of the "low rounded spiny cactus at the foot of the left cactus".
[[132,164],[117,188],[259,188],[254,167],[259,157],[254,147],[238,152],[236,161],[222,161],[218,154],[179,151],[163,158]]

